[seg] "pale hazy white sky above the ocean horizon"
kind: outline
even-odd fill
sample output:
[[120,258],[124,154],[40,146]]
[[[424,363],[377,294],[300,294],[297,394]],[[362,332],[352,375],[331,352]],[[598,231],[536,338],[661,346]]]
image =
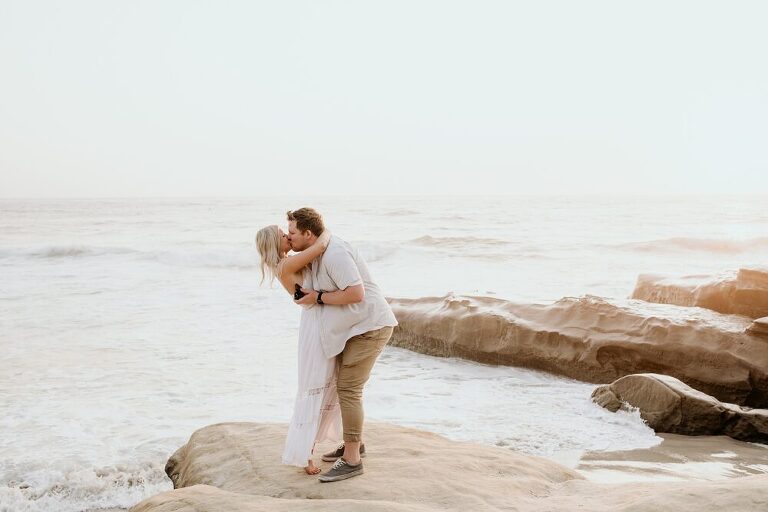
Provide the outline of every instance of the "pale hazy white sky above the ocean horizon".
[[768,189],[768,3],[0,0],[0,196]]

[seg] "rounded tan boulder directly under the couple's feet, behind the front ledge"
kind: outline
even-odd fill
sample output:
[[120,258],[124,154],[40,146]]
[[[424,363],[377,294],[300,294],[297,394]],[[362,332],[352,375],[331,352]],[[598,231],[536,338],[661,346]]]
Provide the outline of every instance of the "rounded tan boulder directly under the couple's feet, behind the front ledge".
[[[366,507],[368,503],[387,502],[392,510],[420,510],[408,508],[418,504],[428,505],[429,510],[503,508],[509,494],[546,494],[556,483],[581,478],[546,459],[376,425],[366,431],[366,474],[320,484],[317,477],[304,474],[301,468],[280,464],[285,430],[282,425],[256,423],[205,427],[171,456],[166,473],[177,489],[203,484],[271,498],[362,500]],[[321,467],[327,470],[330,465],[322,463]],[[211,492],[199,490],[201,496]],[[240,503],[238,497],[227,499]],[[394,507],[397,504],[399,508]],[[144,510],[155,509],[143,504],[133,512]]]

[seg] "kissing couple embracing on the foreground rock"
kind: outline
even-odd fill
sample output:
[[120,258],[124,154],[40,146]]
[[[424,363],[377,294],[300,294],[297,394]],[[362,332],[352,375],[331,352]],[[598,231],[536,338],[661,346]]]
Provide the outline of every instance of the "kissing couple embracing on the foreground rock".
[[262,283],[275,278],[301,307],[298,390],[282,461],[320,474],[316,444],[343,443],[322,460],[335,482],[363,473],[363,388],[397,325],[358,251],[332,235],[312,208],[287,213],[288,227],[256,234]]

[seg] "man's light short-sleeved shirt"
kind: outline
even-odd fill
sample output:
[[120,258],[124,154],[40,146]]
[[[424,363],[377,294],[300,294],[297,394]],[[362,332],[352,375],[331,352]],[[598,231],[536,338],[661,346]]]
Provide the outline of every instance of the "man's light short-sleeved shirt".
[[357,304],[320,306],[320,344],[326,357],[341,353],[347,340],[358,334],[397,325],[379,286],[371,279],[368,265],[347,242],[331,236],[325,253],[312,262],[309,271],[311,288],[333,292],[363,284],[365,299]]

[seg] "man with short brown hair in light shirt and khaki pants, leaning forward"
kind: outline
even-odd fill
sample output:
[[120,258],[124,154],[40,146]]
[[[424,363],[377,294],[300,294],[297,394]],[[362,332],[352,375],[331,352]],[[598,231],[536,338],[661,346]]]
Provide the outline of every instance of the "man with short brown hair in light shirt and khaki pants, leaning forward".
[[[294,251],[311,247],[325,230],[322,216],[312,208],[288,212],[288,240]],[[323,455],[335,461],[320,476],[335,482],[363,473],[363,386],[376,359],[397,325],[381,289],[357,250],[332,236],[325,253],[310,266],[311,288],[302,288],[297,304],[320,304],[320,343],[326,357],[339,363],[338,393],[344,444]]]

